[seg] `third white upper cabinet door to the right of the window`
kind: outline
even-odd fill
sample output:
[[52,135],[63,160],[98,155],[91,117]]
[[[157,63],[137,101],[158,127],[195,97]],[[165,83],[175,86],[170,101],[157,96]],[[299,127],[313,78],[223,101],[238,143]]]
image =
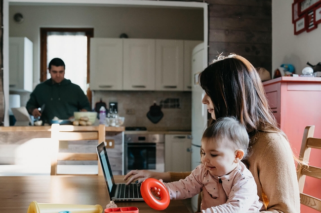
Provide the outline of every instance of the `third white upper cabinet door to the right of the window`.
[[156,90],[183,91],[183,40],[156,39]]

